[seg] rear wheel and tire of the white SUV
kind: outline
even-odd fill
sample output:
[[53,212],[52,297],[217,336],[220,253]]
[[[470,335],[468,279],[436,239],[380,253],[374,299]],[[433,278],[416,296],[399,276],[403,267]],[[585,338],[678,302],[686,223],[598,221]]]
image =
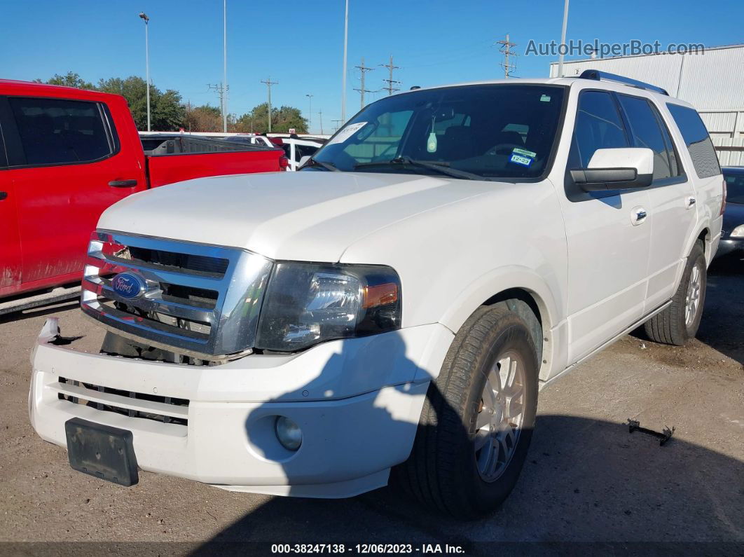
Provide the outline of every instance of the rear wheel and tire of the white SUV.
[[[690,255],[687,256],[684,274],[682,274],[679,288],[672,298],[672,304],[644,323],[644,329],[648,337],[654,342],[673,344],[678,347],[681,347],[690,338],[694,338],[702,318],[707,284],[705,252],[702,242],[696,242],[692,251],[690,251]],[[690,297],[696,297],[696,303],[694,309],[691,309],[688,313]]]

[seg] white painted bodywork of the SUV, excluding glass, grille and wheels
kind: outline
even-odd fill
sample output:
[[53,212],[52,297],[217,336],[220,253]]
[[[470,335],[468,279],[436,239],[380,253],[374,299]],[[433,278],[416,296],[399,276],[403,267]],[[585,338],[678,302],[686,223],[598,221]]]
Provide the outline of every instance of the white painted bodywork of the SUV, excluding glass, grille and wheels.
[[[298,355],[248,355],[218,368],[85,354],[40,338],[32,357],[33,427],[65,445],[65,420],[80,416],[132,431],[146,470],[251,492],[355,495],[384,485],[391,466],[408,457],[429,382],[458,329],[495,294],[523,289],[536,301],[545,339],[541,381],[667,303],[702,231],[709,259],[715,251],[719,177],[700,181],[691,172],[664,107],[668,97],[589,80],[529,81],[568,87],[554,164],[541,181],[267,173],[173,184],[110,207],[100,229],[244,248],[274,260],[390,265],[400,275],[403,328]],[[688,181],[569,199],[568,150],[583,88],[655,102]],[[643,167],[638,149],[626,151]],[[697,202],[687,209],[689,196]],[[649,214],[634,225],[638,208]],[[57,398],[59,376],[189,399],[188,425],[72,405]],[[251,437],[263,427],[255,424],[275,415],[303,428],[295,457],[261,454]]]

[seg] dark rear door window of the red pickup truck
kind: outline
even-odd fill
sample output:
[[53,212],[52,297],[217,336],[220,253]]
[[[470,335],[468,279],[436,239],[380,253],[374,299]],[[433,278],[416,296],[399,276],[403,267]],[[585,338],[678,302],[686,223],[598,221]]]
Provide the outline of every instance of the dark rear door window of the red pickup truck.
[[26,164],[97,161],[115,150],[99,103],[9,97]]

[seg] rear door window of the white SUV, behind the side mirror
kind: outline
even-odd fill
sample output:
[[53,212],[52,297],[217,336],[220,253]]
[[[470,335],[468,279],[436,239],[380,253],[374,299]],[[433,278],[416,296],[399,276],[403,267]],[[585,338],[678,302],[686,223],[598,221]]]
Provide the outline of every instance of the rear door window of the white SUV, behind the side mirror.
[[628,118],[633,147],[646,147],[653,151],[653,179],[679,176],[669,132],[655,109],[646,99],[623,94],[618,97]]

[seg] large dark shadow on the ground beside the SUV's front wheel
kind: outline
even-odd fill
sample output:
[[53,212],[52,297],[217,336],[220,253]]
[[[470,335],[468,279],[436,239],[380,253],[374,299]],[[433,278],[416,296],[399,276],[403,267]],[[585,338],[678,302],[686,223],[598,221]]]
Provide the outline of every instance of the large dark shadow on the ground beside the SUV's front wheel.
[[[390,487],[346,500],[274,498],[196,554],[246,541],[449,543],[469,553],[490,553],[482,541],[743,543],[743,515],[740,461],[679,439],[660,447],[618,423],[547,415],[516,489],[489,518],[455,521]],[[716,520],[702,529],[701,517]]]

